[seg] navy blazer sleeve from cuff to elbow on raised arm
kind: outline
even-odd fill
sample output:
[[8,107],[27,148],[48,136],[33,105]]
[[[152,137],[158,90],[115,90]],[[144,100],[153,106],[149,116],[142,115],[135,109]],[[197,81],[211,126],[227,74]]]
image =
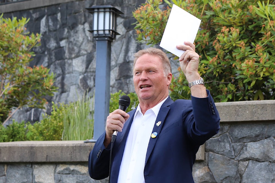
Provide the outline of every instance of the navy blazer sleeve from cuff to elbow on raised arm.
[[207,98],[191,96],[194,119],[189,123],[187,134],[198,145],[204,144],[220,129],[219,112],[209,90],[207,95]]

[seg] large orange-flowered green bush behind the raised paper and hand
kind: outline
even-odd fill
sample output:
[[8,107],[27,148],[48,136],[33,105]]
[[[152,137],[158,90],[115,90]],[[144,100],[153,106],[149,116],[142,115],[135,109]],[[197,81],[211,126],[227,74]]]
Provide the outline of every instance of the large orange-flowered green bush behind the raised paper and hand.
[[[151,45],[161,41],[174,3],[202,20],[195,39],[199,72],[216,101],[274,99],[274,1],[164,1],[148,0],[133,12],[138,41]],[[160,9],[164,4],[168,6]],[[159,23],[157,15],[163,15]],[[173,99],[190,98],[182,73],[172,79],[170,91]]]

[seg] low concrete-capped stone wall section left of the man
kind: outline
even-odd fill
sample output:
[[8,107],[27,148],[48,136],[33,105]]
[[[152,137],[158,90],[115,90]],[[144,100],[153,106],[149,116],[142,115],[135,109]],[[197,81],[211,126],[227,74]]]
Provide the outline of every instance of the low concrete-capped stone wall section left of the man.
[[0,147],[0,183],[94,182],[87,173],[93,143],[3,142]]

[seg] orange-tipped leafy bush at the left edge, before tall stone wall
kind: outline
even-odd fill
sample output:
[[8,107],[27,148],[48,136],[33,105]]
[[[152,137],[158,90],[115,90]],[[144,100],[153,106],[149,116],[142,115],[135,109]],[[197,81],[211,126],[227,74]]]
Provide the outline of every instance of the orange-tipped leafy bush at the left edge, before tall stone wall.
[[27,22],[26,18],[11,20],[0,15],[0,122],[3,124],[23,106],[44,108],[47,102],[44,97],[57,91],[50,69],[42,65],[29,67],[34,56],[31,49],[39,45],[40,34],[25,32]]

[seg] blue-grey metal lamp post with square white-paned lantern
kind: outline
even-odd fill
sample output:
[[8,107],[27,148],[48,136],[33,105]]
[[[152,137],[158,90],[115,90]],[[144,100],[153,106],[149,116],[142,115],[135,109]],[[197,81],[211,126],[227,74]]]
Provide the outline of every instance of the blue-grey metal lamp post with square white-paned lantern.
[[119,35],[116,31],[116,20],[123,13],[110,5],[92,6],[87,10],[93,14],[93,30],[90,32],[97,41],[94,136],[89,140],[95,142],[105,131],[106,118],[109,115],[111,42]]

